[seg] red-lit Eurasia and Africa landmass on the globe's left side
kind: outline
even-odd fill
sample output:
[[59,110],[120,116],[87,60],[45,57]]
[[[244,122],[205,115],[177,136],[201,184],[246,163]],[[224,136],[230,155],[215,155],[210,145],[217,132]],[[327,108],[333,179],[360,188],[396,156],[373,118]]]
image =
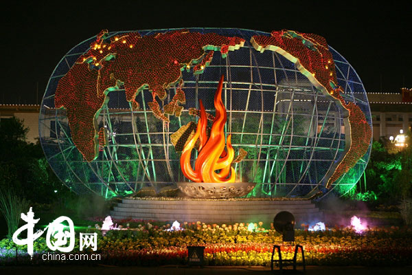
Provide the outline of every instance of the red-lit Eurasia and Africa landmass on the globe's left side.
[[[193,67],[194,74],[200,74],[214,51],[225,57],[244,43],[238,37],[187,30],[144,37],[139,32],[129,32],[112,39],[108,39],[107,33],[102,30],[90,49],[60,79],[54,100],[56,108],[67,109],[73,143],[88,162],[98,157],[96,118],[111,91],[124,87],[126,100],[139,109],[135,98],[143,89],[149,89],[153,98],[148,102],[150,109],[157,118],[168,122],[157,98],[164,100],[165,89],[180,83],[181,71]],[[179,84],[180,90],[182,85]],[[180,115],[178,102],[185,102],[185,96],[179,92],[175,97],[164,109],[166,113]]]

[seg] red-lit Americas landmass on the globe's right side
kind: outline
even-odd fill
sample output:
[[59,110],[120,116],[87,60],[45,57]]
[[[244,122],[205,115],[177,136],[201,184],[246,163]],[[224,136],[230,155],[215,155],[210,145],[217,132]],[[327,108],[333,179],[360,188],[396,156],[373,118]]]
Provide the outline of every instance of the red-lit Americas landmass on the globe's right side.
[[271,50],[295,63],[299,72],[304,74],[314,87],[334,98],[348,112],[344,122],[346,136],[350,138],[347,138],[343,158],[325,177],[325,187],[329,188],[365,155],[372,130],[363,111],[354,102],[345,102],[343,89],[337,85],[334,60],[328,43],[317,34],[292,30],[273,31],[271,36],[253,36],[251,43],[255,50]]

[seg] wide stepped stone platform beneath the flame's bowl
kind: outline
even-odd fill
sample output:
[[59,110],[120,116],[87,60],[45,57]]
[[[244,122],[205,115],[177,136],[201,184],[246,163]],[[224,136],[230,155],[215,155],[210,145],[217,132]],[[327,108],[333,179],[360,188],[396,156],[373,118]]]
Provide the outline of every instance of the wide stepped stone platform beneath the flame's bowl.
[[[321,221],[322,213],[314,203],[304,199],[122,199],[111,211],[114,219],[154,221],[202,221],[205,223],[273,222],[280,211],[289,211],[297,224]],[[266,225],[267,226],[267,225]]]

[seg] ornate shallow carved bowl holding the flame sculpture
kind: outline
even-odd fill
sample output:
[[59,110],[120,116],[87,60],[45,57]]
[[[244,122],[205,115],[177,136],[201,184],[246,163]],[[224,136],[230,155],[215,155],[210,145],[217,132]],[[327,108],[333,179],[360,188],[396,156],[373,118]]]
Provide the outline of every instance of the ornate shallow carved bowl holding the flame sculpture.
[[227,199],[232,197],[243,197],[253,188],[255,183],[249,182],[178,182],[177,186],[186,197],[198,199]]

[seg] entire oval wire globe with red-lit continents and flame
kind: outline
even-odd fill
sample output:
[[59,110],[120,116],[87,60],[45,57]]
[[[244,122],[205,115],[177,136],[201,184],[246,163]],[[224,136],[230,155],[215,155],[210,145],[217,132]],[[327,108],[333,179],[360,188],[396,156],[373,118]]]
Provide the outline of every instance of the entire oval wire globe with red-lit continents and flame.
[[[224,147],[202,153],[219,123]],[[67,187],[106,198],[203,177],[249,184],[247,197],[344,195],[371,149],[354,68],[323,37],[290,30],[103,30],[54,69],[39,132]],[[215,164],[196,164],[205,155]]]

